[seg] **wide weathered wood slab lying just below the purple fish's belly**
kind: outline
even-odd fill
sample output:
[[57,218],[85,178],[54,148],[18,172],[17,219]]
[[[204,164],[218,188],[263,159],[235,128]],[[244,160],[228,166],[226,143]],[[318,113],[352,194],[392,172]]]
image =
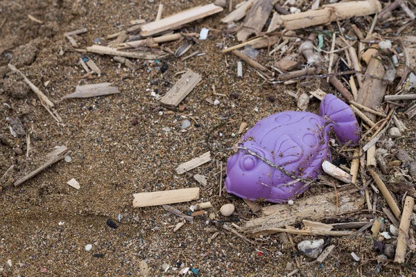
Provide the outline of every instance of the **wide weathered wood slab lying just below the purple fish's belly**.
[[338,205],[334,192],[310,195],[297,199],[291,206],[277,204],[264,207],[261,209],[263,217],[248,221],[242,228],[248,233],[262,233],[305,219],[320,221],[337,214],[360,211],[363,205],[364,197],[351,190],[338,192]]

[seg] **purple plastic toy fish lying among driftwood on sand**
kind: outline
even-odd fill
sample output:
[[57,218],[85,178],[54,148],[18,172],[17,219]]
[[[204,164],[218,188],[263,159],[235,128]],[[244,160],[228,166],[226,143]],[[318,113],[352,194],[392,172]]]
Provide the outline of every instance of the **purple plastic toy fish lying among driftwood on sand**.
[[225,188],[250,200],[284,203],[295,199],[309,188],[305,179],[316,179],[322,173],[322,162],[330,159],[331,129],[342,143],[358,143],[354,112],[332,94],[322,99],[319,116],[284,111],[260,120],[228,159]]

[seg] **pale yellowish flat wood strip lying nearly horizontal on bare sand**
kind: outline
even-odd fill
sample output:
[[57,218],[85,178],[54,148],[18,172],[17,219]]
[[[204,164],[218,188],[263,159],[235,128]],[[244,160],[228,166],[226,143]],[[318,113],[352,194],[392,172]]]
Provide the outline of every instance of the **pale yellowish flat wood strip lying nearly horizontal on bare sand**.
[[133,207],[159,206],[182,203],[199,198],[200,188],[182,188],[179,190],[162,190],[152,193],[135,193]]

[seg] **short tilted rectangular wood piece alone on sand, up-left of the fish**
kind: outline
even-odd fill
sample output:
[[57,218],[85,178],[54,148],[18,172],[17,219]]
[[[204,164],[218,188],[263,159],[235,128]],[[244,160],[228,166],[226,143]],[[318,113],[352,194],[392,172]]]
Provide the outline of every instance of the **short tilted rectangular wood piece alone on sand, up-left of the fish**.
[[202,80],[198,73],[191,70],[187,71],[182,78],[162,97],[160,102],[166,105],[177,106]]

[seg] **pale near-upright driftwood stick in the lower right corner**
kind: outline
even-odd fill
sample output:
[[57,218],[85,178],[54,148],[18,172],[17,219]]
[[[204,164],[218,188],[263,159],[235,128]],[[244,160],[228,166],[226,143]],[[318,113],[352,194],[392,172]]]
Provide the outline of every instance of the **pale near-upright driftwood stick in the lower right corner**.
[[403,215],[401,216],[400,227],[399,227],[399,238],[397,238],[397,248],[395,262],[402,264],[406,262],[406,249],[409,240],[409,227],[410,227],[410,217],[413,214],[413,205],[415,204],[415,199],[410,196],[406,197],[403,207]]

